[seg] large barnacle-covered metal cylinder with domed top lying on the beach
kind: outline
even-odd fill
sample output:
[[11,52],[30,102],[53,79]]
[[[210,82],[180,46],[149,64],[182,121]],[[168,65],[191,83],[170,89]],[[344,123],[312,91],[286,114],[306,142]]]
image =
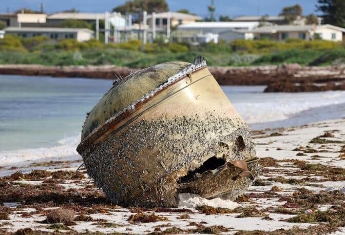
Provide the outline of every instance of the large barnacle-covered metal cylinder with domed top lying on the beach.
[[261,171],[250,129],[200,57],[114,84],[89,113],[77,150],[123,206],[176,206],[182,192],[235,198]]

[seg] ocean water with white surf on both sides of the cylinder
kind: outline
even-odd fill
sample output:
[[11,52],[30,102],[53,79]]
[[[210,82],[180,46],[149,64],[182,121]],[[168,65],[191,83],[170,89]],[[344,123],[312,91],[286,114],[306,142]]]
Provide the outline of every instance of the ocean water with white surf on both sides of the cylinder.
[[[86,112],[110,80],[0,75],[0,164],[77,154]],[[254,129],[345,116],[345,91],[262,93],[264,86],[222,86]]]

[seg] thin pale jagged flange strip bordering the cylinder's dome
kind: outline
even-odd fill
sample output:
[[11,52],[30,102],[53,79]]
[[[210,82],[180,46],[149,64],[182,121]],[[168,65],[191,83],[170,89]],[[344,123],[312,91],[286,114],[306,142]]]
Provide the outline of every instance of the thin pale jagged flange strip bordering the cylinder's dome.
[[140,102],[143,102],[145,100],[148,100],[150,97],[153,97],[157,92],[159,92],[160,90],[164,89],[165,87],[169,86],[170,84],[182,79],[182,77],[184,77],[185,75],[192,73],[202,67],[206,67],[206,60],[204,57],[202,56],[197,56],[194,59],[193,64],[190,64],[188,66],[186,66],[184,69],[182,69],[180,72],[176,73],[175,75],[171,76],[168,78],[168,81],[166,83],[163,83],[162,85],[160,85],[159,87],[157,87],[155,90],[150,91],[149,93],[147,93],[146,95],[142,96],[139,100],[131,103],[130,105],[128,105],[127,107],[125,107],[124,109],[122,109],[121,111],[115,113],[113,116],[111,116],[111,118],[109,118],[105,123],[103,123],[101,126],[93,129],[91,131],[91,133],[89,133],[86,138],[84,138],[84,140],[80,143],[82,144],[83,142],[85,142],[89,136],[91,136],[92,134],[94,134],[95,132],[97,132],[103,125],[108,124],[110,122],[112,122],[114,119],[116,119],[119,115],[121,115],[122,113],[128,111],[128,110],[132,110],[135,109],[136,105]]

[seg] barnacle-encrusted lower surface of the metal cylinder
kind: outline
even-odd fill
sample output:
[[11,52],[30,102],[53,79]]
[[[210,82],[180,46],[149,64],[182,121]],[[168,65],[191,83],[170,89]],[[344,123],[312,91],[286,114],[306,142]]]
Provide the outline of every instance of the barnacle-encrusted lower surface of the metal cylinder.
[[[214,155],[222,155],[226,161],[255,155],[247,126],[238,127],[232,119],[212,113],[205,116],[141,120],[121,133],[111,133],[84,153],[88,172],[113,203],[176,206],[178,175],[193,170]],[[234,131],[226,131],[229,129]],[[236,144],[239,136],[246,143],[245,148]],[[233,176],[238,173],[239,169],[234,168]],[[228,191],[244,189],[250,180],[233,183],[224,187]]]

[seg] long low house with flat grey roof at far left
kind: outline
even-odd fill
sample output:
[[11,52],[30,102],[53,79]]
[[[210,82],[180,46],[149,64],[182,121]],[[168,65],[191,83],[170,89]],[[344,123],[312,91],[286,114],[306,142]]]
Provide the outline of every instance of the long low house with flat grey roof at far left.
[[54,40],[74,38],[78,42],[88,41],[93,38],[93,31],[83,28],[19,28],[8,27],[6,34],[16,34],[22,37],[46,36]]

